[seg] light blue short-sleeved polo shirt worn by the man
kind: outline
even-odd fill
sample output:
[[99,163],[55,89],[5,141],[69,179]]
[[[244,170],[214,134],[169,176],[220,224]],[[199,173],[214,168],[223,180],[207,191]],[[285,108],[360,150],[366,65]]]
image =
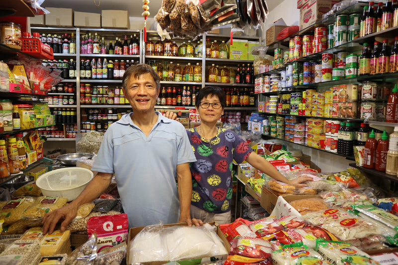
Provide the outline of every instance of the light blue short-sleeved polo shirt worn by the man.
[[156,112],[148,137],[125,114],[107,129],[92,167],[115,174],[129,227],[179,220],[177,165],[196,158],[184,126]]

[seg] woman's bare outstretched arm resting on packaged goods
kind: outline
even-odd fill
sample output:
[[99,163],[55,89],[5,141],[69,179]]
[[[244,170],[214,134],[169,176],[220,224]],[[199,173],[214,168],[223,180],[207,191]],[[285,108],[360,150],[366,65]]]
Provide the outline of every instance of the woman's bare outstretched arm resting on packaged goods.
[[267,174],[268,176],[276,180],[294,185],[296,187],[305,187],[306,186],[305,184],[300,184],[300,183],[312,180],[312,177],[307,177],[307,176],[297,177],[295,179],[288,180],[281,173],[279,173],[279,171],[276,168],[274,168],[274,166],[272,166],[270,162],[268,162],[265,158],[257,155],[254,152],[250,153],[250,155],[246,158],[246,161],[256,169]]

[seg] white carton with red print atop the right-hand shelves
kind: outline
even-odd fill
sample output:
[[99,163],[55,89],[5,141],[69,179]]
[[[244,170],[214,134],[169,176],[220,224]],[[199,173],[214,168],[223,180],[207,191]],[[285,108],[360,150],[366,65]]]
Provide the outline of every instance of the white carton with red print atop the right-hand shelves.
[[340,0],[309,0],[300,8],[300,30],[321,20],[322,15],[338,2]]

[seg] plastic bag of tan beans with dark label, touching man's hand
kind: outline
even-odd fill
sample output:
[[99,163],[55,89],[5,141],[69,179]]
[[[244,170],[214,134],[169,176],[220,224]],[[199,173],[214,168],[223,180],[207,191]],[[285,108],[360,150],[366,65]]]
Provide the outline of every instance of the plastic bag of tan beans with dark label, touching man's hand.
[[66,205],[68,198],[56,196],[40,196],[36,201],[24,212],[23,216],[29,218],[42,218],[46,213],[55,209],[59,209]]

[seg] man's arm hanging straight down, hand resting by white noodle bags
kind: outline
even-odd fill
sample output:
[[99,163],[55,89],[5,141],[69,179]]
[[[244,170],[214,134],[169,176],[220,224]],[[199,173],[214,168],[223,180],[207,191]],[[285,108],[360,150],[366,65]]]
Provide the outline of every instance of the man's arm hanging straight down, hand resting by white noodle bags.
[[192,177],[188,163],[177,165],[178,196],[180,197],[180,220],[179,223],[194,224],[200,226],[201,220],[191,220],[191,198],[192,198]]

